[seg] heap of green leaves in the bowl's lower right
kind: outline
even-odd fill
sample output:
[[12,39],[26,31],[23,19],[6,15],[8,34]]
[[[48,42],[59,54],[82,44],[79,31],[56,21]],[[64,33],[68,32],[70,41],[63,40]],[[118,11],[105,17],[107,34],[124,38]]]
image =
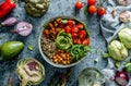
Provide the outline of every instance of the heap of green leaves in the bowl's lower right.
[[84,45],[73,45],[70,53],[73,57],[74,61],[81,60],[88,51],[91,51],[91,48],[88,46]]

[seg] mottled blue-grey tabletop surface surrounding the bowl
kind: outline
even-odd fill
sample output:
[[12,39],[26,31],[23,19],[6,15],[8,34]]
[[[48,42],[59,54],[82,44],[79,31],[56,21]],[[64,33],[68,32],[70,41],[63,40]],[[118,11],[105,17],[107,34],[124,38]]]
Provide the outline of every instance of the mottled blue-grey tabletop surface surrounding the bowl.
[[[2,0],[0,0],[2,1]],[[38,85],[38,86],[49,86],[51,76],[56,73],[64,73],[67,69],[57,69],[51,65],[49,65],[47,62],[45,62],[39,54],[38,51],[38,35],[43,27],[43,24],[52,16],[59,16],[59,15],[69,15],[74,16],[83,22],[88,27],[88,30],[91,33],[91,46],[92,46],[92,52],[86,56],[86,58],[76,66],[73,67],[73,72],[71,73],[71,76],[68,78],[67,86],[76,86],[78,76],[86,67],[94,66],[98,70],[102,70],[106,66],[107,60],[104,60],[102,58],[102,53],[106,51],[106,42],[104,37],[102,36],[100,28],[99,28],[99,17],[94,15],[84,15],[84,9],[82,9],[79,13],[74,10],[74,3],[76,0],[51,0],[49,9],[47,13],[41,17],[32,17],[28,14],[26,14],[26,11],[24,9],[24,2],[23,0],[19,0],[16,9],[14,9],[8,16],[15,16],[20,21],[26,21],[31,22],[34,26],[33,33],[27,37],[21,37],[16,34],[11,34],[10,30],[14,29],[14,27],[0,27],[0,45],[3,44],[7,40],[21,40],[25,44],[25,48],[23,52],[14,60],[12,61],[1,61],[0,60],[0,86],[5,86],[9,76],[13,76],[13,86],[19,86],[19,78],[15,74],[15,64],[16,62],[22,58],[36,58],[38,61],[40,61],[45,69],[46,69],[46,78],[45,81]],[[86,0],[82,0],[86,3]],[[0,20],[3,21],[4,19]],[[29,51],[27,49],[28,45],[34,46],[34,50]],[[97,52],[98,50],[98,52]],[[98,58],[98,63],[94,63],[94,59]]]

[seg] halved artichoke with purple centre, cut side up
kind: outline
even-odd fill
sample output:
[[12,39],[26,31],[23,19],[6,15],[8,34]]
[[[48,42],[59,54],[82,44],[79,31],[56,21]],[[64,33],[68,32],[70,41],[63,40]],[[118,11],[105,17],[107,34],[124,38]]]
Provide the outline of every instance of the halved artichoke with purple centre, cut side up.
[[45,77],[45,69],[35,59],[22,59],[16,64],[16,74],[21,79],[20,86],[38,85]]

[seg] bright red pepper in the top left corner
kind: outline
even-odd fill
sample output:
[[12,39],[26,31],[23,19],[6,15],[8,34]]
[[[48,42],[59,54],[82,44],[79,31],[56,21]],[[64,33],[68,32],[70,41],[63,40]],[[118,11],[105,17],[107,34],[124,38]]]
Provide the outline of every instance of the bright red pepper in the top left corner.
[[15,2],[16,0],[4,0],[0,3],[0,19],[4,17],[16,7]]

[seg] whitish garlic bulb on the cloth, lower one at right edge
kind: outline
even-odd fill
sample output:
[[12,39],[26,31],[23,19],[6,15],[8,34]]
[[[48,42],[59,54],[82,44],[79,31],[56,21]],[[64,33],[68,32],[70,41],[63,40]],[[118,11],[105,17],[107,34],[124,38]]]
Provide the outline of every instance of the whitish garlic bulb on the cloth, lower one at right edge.
[[130,11],[122,12],[119,17],[120,17],[121,22],[130,22],[131,21],[131,12]]

